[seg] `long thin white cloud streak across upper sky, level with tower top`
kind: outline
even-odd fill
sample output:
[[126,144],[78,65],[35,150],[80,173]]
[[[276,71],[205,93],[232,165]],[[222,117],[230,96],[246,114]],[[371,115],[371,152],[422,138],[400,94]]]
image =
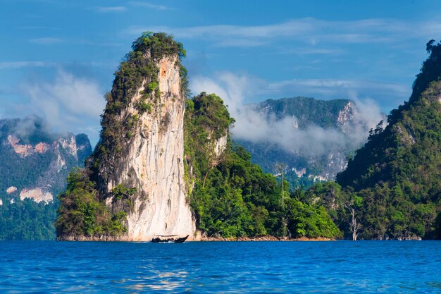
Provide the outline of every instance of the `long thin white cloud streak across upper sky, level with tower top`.
[[[409,38],[432,38],[437,35],[440,22],[404,22],[394,19],[365,19],[333,21],[316,18],[297,18],[271,25],[206,25],[195,27],[132,26],[126,33],[139,35],[144,31],[169,32],[182,39],[203,39],[213,44],[244,47],[259,46],[280,39],[297,39],[316,46],[321,43],[365,44],[402,42]],[[325,53],[323,51],[322,53]]]

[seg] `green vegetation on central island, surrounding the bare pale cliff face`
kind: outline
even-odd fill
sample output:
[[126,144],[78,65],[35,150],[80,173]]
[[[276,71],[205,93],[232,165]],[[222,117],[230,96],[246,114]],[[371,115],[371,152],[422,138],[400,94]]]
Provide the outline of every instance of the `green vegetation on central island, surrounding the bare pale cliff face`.
[[[115,167],[126,160],[125,150],[132,137],[145,135],[136,133],[139,117],[145,112],[152,111],[152,116],[159,113],[157,61],[177,58],[182,96],[189,93],[187,71],[180,64],[185,56],[182,44],[163,33],[144,33],[132,49],[115,74],[112,91],[106,94],[101,140],[85,171],[70,173],[68,188],[59,195],[56,227],[60,239],[118,237],[125,233],[126,213],[132,212],[131,199],[137,189],[125,184],[111,191],[99,187],[107,187]],[[132,103],[135,95],[139,100]],[[135,113],[123,111],[129,106],[134,106],[131,109]],[[340,231],[323,208],[295,200],[287,183],[282,195],[280,183],[252,164],[244,148],[232,145],[228,128],[234,122],[216,94],[203,92],[187,99],[183,164],[197,228],[207,235],[223,237],[270,234],[339,238]],[[127,178],[130,183],[130,174]],[[149,200],[149,195],[137,196]],[[112,209],[105,204],[109,197],[116,204]]]

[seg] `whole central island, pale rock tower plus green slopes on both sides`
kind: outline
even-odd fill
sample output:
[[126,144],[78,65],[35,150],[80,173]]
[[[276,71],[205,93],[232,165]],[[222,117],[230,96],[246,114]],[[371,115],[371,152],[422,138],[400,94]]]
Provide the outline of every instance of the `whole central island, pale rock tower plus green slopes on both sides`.
[[[87,159],[87,168],[71,173],[66,192],[59,196],[58,239],[141,240],[151,234],[179,234],[188,228],[193,234],[200,231],[201,235],[225,238],[342,236],[324,207],[300,202],[290,195],[287,183],[282,191],[271,174],[251,164],[246,150],[232,145],[228,128],[234,118],[220,97],[206,93],[189,97],[187,71],[180,63],[185,56],[182,44],[164,33],[145,33],[132,49],[106,95],[101,140]],[[173,127],[173,119],[182,121]],[[174,138],[178,135],[174,144],[182,144],[182,151],[173,154],[171,132]],[[147,149],[139,157],[144,144]],[[169,190],[173,183],[164,178],[154,178],[153,183],[151,174],[141,172],[145,159],[152,155],[155,162],[146,173],[156,173],[156,177],[157,166],[171,169],[173,176],[182,171],[175,181],[180,183],[179,197],[184,202],[179,197],[170,199],[175,192]],[[167,157],[176,158],[168,161]],[[182,170],[173,161],[182,164]],[[150,185],[161,187],[152,191]],[[167,193],[161,194],[164,190]],[[149,197],[158,202],[166,198],[168,207],[158,212],[149,207]],[[177,204],[180,207],[173,208]],[[173,213],[185,209],[191,211],[192,220],[174,229]],[[155,222],[152,214],[162,214],[168,222],[165,226]],[[140,233],[139,219],[150,222],[143,225],[151,230],[150,235]]]

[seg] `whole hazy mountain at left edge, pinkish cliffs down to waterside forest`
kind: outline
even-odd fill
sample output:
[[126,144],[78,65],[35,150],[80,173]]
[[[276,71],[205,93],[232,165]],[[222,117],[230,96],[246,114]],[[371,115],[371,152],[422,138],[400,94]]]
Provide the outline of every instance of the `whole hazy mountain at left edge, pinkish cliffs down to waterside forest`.
[[54,239],[56,196],[92,153],[85,134],[56,134],[38,116],[0,120],[0,240]]

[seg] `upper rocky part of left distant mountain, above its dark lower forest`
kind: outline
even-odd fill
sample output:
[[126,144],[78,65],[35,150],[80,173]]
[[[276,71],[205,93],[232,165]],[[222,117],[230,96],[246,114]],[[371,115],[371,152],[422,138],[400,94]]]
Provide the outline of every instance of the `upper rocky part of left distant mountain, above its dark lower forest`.
[[1,192],[36,202],[54,200],[92,152],[87,135],[51,133],[37,116],[0,120],[0,142]]

